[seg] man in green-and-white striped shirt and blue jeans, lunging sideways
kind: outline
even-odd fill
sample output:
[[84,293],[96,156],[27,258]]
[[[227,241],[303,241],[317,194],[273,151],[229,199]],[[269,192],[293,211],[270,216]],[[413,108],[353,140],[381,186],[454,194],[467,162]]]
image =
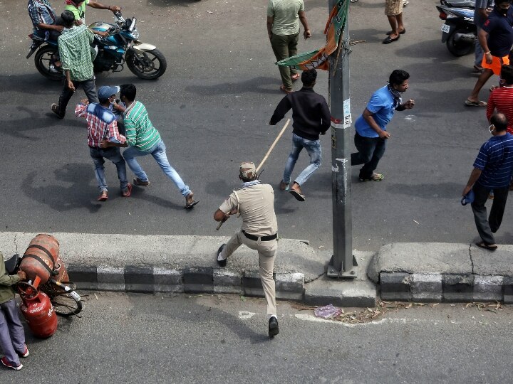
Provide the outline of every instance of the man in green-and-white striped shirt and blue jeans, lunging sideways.
[[[141,102],[135,101],[135,94],[137,92],[135,85],[123,84],[120,88],[120,100],[126,105],[125,112],[123,112],[126,144],[130,146],[130,148],[123,151],[123,157],[136,176],[133,179],[133,183],[136,186],[150,185],[145,171],[142,170],[135,157],[151,154],[166,176],[180,189],[180,193],[185,197],[185,208],[190,209],[194,207],[198,203],[194,199],[194,193],[192,193],[189,186],[185,185],[178,172],[175,171],[169,160],[167,160],[165,144],[160,139],[157,129],[153,127],[145,106]],[[103,145],[120,146],[119,144],[106,141],[102,142]]]

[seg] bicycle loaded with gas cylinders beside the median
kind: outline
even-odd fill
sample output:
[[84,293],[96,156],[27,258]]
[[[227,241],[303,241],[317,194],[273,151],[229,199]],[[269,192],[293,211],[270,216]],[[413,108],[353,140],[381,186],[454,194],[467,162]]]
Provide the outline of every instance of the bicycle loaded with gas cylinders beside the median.
[[[19,270],[22,258],[16,253],[5,261],[9,274],[16,274]],[[73,282],[58,282],[56,279],[48,279],[48,282],[38,287],[32,285],[32,281],[22,282],[33,289],[41,289],[48,295],[53,305],[53,310],[61,316],[78,315],[83,308],[81,296],[75,292],[76,284]]]

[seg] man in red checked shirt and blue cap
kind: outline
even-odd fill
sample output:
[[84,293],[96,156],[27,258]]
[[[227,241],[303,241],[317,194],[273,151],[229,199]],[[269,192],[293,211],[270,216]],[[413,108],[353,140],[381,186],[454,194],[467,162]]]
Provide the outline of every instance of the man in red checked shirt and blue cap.
[[81,104],[76,106],[75,114],[77,117],[85,117],[88,123],[88,146],[90,156],[95,164],[96,181],[100,196],[98,201],[108,199],[107,181],[105,181],[105,159],[112,161],[118,169],[118,178],[120,181],[121,194],[129,197],[132,193],[132,184],[128,183],[126,178],[126,165],[123,156],[120,154],[118,146],[109,146],[100,148],[100,142],[107,140],[116,144],[125,144],[126,138],[118,131],[118,122],[115,115],[110,110],[110,103],[115,101],[115,95],[118,93],[118,87],[103,86],[98,89],[99,103],[88,103],[88,100],[82,100]]

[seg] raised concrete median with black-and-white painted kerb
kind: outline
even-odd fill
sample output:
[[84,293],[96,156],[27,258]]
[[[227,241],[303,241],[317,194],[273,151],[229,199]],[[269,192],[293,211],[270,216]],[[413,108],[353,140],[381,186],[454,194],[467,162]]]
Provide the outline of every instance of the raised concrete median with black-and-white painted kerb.
[[[0,233],[5,257],[23,255],[37,233]],[[257,252],[244,245],[217,265],[228,237],[52,233],[79,290],[227,293],[263,297]],[[332,255],[306,240],[279,240],[276,297],[311,305],[375,306],[413,302],[513,303],[513,246],[494,252],[469,244],[393,243],[354,251],[356,279],[326,277]]]

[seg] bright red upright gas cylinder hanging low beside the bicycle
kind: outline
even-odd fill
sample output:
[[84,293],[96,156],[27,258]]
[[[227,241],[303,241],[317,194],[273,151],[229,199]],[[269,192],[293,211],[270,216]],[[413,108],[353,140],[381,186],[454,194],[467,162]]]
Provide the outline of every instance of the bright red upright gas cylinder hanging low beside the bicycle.
[[27,282],[20,282],[18,290],[21,297],[21,313],[25,317],[28,328],[36,337],[52,336],[57,329],[57,315],[53,311],[50,298]]

